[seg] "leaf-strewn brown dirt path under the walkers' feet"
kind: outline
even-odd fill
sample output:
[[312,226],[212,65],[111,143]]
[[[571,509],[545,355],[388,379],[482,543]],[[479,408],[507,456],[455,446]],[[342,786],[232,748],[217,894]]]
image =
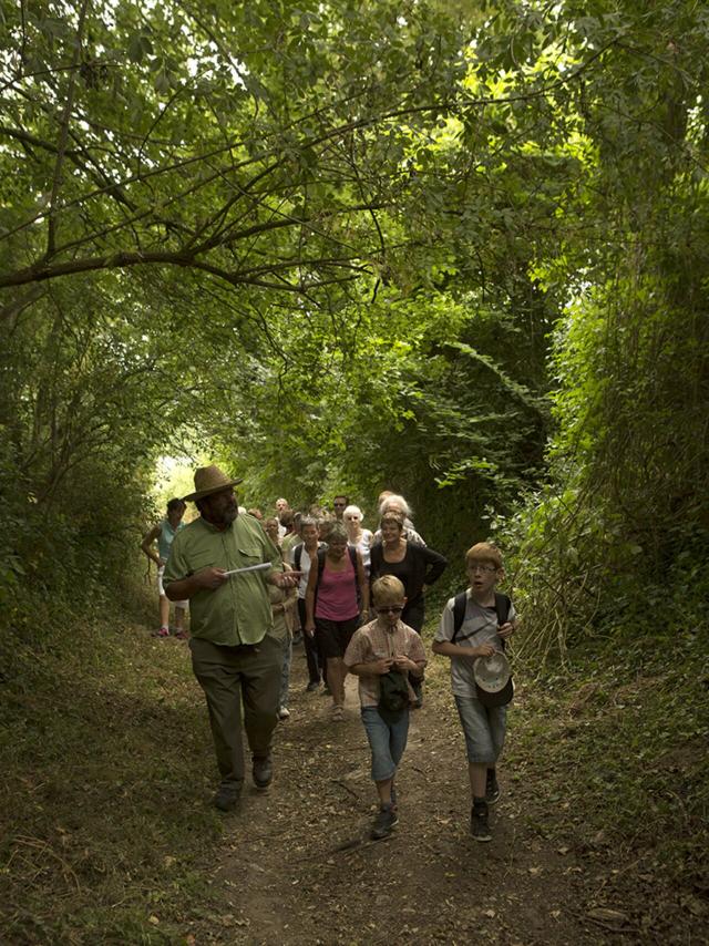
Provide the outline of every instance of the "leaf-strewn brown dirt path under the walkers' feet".
[[504,768],[494,839],[471,839],[462,737],[443,673],[433,675],[424,708],[412,714],[398,777],[400,824],[390,840],[370,842],[374,793],[356,681],[348,680],[346,721],[335,723],[329,699],[305,692],[301,657],[298,648],[275,782],[266,793],[246,792],[240,813],[227,816],[213,874],[224,911],[193,942],[462,944],[482,936],[514,946],[597,944],[614,932],[613,942],[626,940],[623,914],[593,916],[587,866],[545,840],[532,786]]

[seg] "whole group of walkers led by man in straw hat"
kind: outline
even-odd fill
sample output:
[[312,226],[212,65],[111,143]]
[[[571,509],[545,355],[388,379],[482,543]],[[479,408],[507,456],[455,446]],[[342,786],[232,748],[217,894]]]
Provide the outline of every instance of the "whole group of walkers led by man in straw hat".
[[[399,820],[395,786],[409,714],[423,705],[425,648],[420,636],[425,589],[446,567],[443,555],[415,532],[402,496],[379,497],[379,528],[362,527],[361,510],[345,495],[333,512],[294,512],[278,500],[276,516],[237,505],[235,486],[217,466],[195,472],[195,490],[168,503],[163,523],[142,544],[158,564],[160,628],[186,637],[204,691],[220,782],[214,804],[238,806],[245,781],[242,729],[257,789],[273,781],[271,737],[290,716],[294,640],[302,639],[307,690],[325,686],[331,718],[345,718],[345,680],[358,679],[361,719],[371,751],[379,811],[371,837],[391,834]],[[185,503],[198,516],[182,522]],[[158,555],[153,543],[158,542]],[[450,658],[451,687],[465,738],[471,834],[490,841],[489,806],[500,798],[496,763],[512,698],[505,642],[516,614],[496,592],[502,556],[489,543],[466,553],[469,587],[445,605],[432,651]]]

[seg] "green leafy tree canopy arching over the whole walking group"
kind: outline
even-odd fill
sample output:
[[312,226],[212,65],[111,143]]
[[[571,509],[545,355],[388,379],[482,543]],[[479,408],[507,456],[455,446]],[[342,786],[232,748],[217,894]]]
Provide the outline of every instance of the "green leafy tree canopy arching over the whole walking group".
[[451,552],[496,529],[544,650],[698,567],[697,4],[41,0],[0,30],[16,608],[97,547],[113,574],[197,444],[264,501],[394,486]]

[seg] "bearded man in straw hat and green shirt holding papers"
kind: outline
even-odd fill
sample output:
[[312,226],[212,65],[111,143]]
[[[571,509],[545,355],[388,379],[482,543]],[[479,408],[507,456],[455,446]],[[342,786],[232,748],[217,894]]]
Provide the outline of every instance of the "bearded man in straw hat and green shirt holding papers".
[[[237,806],[244,783],[242,701],[254,783],[266,789],[271,782],[282,641],[274,635],[266,586],[291,587],[299,577],[284,574],[258,521],[239,515],[234,487],[240,482],[214,465],[195,472],[195,492],[185,500],[201,516],[175,536],[163,577],[171,600],[189,600],[192,666],[209,710],[220,811]],[[270,567],[259,569],[264,564]]]

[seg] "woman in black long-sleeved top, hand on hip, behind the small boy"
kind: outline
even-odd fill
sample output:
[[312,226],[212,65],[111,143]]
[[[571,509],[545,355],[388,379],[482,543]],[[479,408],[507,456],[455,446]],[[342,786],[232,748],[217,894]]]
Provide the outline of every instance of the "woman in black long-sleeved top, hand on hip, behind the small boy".
[[401,619],[421,633],[424,618],[423,593],[440,578],[448,559],[424,545],[414,545],[403,537],[404,521],[398,512],[384,513],[381,521],[381,543],[371,548],[370,580],[382,575],[395,575],[407,593],[407,606]]

